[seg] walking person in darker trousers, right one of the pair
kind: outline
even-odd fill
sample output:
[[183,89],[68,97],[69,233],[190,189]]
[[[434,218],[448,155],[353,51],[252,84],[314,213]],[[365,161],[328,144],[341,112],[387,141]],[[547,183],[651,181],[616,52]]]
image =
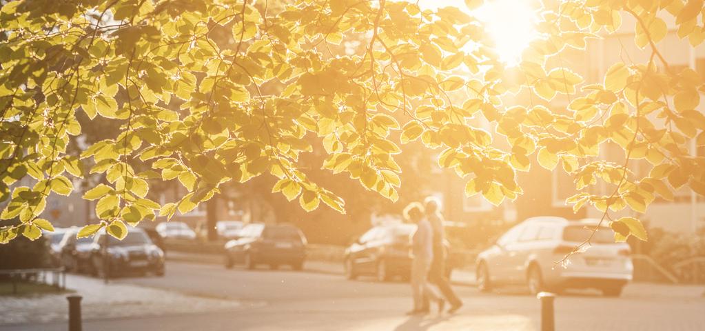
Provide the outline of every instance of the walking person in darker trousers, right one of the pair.
[[443,215],[439,208],[439,201],[435,197],[428,197],[424,200],[424,209],[426,217],[429,219],[431,229],[433,229],[433,254],[434,258],[431,262],[429,270],[429,282],[435,284],[439,288],[443,297],[450,303],[448,313],[455,313],[462,307],[462,301],[455,295],[453,289],[450,288],[450,282],[446,277],[446,246],[443,244],[445,239],[446,229],[443,228]]

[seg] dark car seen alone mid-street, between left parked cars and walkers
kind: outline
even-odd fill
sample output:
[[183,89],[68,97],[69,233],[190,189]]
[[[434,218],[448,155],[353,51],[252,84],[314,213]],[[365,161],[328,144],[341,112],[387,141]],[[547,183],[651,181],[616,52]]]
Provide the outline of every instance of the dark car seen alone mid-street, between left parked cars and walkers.
[[259,264],[276,269],[290,265],[301,270],[306,258],[306,238],[297,227],[288,224],[247,224],[240,238],[225,244],[225,267],[236,263],[247,269]]

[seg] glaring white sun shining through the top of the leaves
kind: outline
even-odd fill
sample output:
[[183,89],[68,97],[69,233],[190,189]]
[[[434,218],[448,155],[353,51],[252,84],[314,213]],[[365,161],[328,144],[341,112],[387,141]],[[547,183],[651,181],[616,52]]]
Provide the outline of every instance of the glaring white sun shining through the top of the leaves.
[[509,66],[518,64],[537,37],[537,15],[529,0],[488,0],[473,13],[494,40],[499,59]]

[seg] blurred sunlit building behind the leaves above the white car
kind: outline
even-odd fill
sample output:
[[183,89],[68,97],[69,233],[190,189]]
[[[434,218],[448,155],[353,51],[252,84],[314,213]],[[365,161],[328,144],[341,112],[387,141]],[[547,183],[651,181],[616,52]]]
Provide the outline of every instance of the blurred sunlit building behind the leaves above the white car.
[[[657,44],[659,52],[668,61],[672,70],[680,72],[683,68],[692,68],[705,79],[705,45],[700,44],[693,48],[688,40],[678,37],[672,16],[663,16],[669,31],[668,35]],[[604,36],[603,40],[589,40],[586,50],[571,49],[565,52],[561,59],[554,59],[555,63],[549,66],[566,66],[579,73],[587,83],[602,83],[606,71],[617,62],[629,64],[646,64],[651,56],[651,50],[639,49],[635,44],[635,25],[637,21],[623,15],[623,24],[617,33]],[[560,61],[560,63],[559,63]],[[660,63],[659,63],[660,64]],[[662,68],[663,70],[663,68]],[[553,112],[566,113],[571,98],[575,95],[556,95],[550,104],[544,104]],[[529,101],[527,95],[521,93],[512,99],[505,100],[508,104],[538,104],[537,100]],[[700,97],[697,107],[699,112],[705,111],[705,96]],[[669,100],[673,102],[673,100]],[[652,119],[654,120],[654,119]],[[484,123],[483,126],[489,126]],[[491,128],[487,128],[491,129]],[[492,132],[492,130],[488,130]],[[497,138],[497,137],[496,137]],[[503,138],[498,138],[503,140]],[[692,155],[705,156],[705,148],[696,148],[694,139],[690,145]],[[614,143],[603,143],[600,146],[600,159],[612,160],[623,163],[624,151]],[[629,167],[635,174],[646,175],[651,169],[651,164],[646,160],[632,160]],[[488,203],[481,195],[465,198],[465,181],[458,178],[450,171],[434,169],[439,179],[429,193],[439,196],[444,203],[444,212],[448,219],[460,222],[518,222],[527,217],[538,215],[554,215],[569,219],[583,217],[601,217],[602,213],[596,208],[583,207],[574,213],[572,207],[565,205],[565,199],[575,194],[575,184],[572,176],[565,174],[563,169],[548,171],[532,158],[531,170],[527,173],[519,172],[518,181],[524,190],[514,202],[506,201],[499,207]],[[596,186],[592,193],[609,195],[611,191],[605,186]],[[632,212],[628,207],[622,212],[613,213],[615,217],[637,216],[649,227],[692,234],[705,229],[705,198],[683,187],[675,191],[674,201],[656,198],[646,209],[644,215]]]

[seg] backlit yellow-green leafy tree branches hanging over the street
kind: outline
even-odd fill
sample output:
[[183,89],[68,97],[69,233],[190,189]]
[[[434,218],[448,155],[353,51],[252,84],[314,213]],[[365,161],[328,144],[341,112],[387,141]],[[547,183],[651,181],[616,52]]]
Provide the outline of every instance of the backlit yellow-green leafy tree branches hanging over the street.
[[[345,212],[298,167],[319,141],[312,136],[326,152],[322,168],[391,200],[402,185],[395,156],[412,140],[439,150],[465,193],[494,205],[522,194],[517,171],[529,171],[529,157],[547,169],[560,163],[575,179],[567,203],[603,211],[618,240],[646,232],[611,212],[644,212],[681,186],[705,194],[705,159],[689,152],[692,140],[705,145],[705,116],[695,110],[703,78],[669,66],[658,49],[664,17],[701,44],[702,0],[540,1],[538,37],[515,65],[474,16],[482,0],[437,9],[389,0],[2,2],[0,218],[20,224],[2,227],[1,242],[51,230],[39,218],[47,196],[68,195],[86,174],[106,183],[83,195],[97,200],[102,221],[80,236],[107,227],[122,238],[125,224],[188,212],[223,183],[262,175],[305,210],[322,201]],[[648,62],[614,64],[587,82],[559,61],[614,34],[624,16],[635,18],[634,42],[651,52]],[[216,37],[223,30],[226,40]],[[349,52],[348,40],[359,47]],[[517,93],[533,101],[505,98]],[[556,112],[548,102],[563,95],[568,107]],[[81,112],[117,120],[120,130],[71,155]],[[625,160],[601,160],[604,142],[623,148]],[[648,174],[630,171],[637,159],[650,162]],[[16,184],[25,176],[34,186]],[[183,198],[148,198],[150,183],[173,179]],[[598,185],[611,193],[594,193]]]

